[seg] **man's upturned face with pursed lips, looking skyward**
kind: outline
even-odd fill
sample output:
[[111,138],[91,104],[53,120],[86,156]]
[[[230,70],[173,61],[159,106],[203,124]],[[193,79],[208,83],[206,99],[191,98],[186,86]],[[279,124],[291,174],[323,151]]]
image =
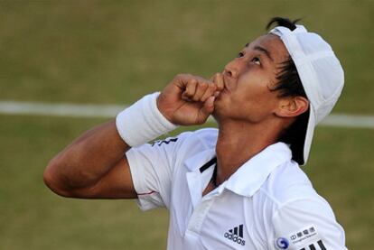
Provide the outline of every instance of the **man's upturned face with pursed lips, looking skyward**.
[[289,57],[283,42],[272,34],[248,43],[223,71],[225,88],[216,98],[214,116],[259,123],[270,116],[280,98],[274,89],[281,63]]

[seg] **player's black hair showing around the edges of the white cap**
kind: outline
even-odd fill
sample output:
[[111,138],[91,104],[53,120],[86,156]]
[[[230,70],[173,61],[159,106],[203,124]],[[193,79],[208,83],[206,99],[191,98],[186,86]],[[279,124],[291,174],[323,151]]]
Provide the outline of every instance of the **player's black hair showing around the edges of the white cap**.
[[[266,30],[269,30],[269,28],[276,23],[276,26],[283,26],[294,31],[296,28],[295,24],[298,21],[300,21],[300,19],[291,21],[284,17],[273,17],[269,23],[267,23]],[[291,56],[281,63],[279,69],[280,71],[276,76],[278,82],[276,83],[276,87],[272,90],[279,91],[279,97],[301,96],[307,98],[295,62],[292,60]],[[282,131],[278,137],[279,142],[290,144],[292,158],[300,165],[304,164],[304,140],[308,119],[309,109],[303,114],[297,116],[295,122]]]

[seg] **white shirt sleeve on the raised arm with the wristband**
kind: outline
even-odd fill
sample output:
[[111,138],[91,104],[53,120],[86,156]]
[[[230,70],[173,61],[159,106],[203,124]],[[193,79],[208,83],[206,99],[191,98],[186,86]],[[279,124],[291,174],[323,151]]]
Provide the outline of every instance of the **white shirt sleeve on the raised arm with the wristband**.
[[137,204],[142,210],[169,208],[176,155],[190,134],[182,133],[126,152],[137,193]]

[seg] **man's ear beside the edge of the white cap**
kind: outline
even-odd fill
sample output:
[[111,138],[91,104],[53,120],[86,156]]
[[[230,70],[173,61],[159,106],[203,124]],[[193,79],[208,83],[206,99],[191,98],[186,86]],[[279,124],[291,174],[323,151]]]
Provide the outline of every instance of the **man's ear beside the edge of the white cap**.
[[276,116],[295,117],[308,110],[309,101],[305,97],[282,97],[276,109]]

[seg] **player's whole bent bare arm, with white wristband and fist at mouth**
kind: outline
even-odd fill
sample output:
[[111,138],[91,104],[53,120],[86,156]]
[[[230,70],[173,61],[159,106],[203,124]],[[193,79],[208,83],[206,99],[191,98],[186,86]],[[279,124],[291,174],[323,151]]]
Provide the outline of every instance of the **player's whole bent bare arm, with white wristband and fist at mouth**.
[[177,125],[203,124],[213,112],[216,90],[216,84],[208,80],[178,75],[164,89],[160,101],[157,92],[142,97],[120,112],[116,121],[82,134],[51,160],[44,182],[61,196],[136,198],[126,151]]

